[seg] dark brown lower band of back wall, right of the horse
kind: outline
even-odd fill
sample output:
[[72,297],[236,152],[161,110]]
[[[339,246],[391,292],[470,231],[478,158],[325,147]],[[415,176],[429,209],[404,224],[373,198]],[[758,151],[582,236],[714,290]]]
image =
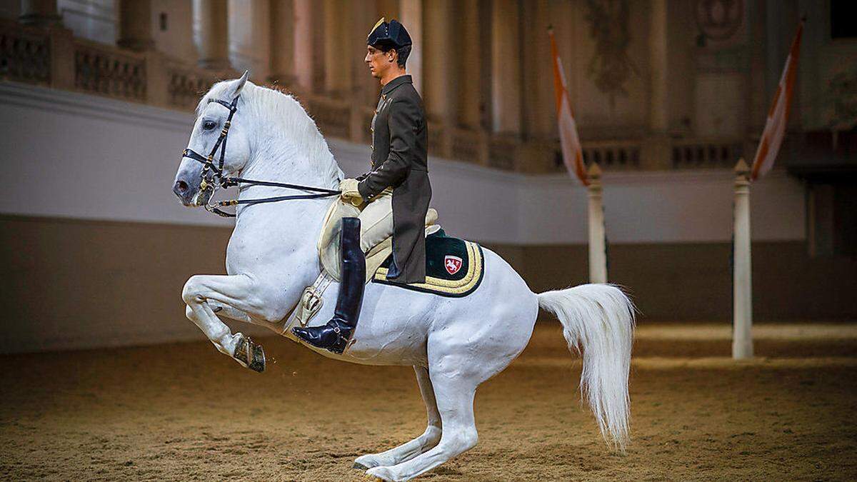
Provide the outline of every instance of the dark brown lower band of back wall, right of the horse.
[[[608,255],[610,282],[626,286],[643,320],[731,320],[730,244],[611,244]],[[512,256],[536,292],[588,276],[584,245],[523,246]],[[857,260],[810,259],[800,241],[754,242],[752,282],[757,321],[857,318]]]

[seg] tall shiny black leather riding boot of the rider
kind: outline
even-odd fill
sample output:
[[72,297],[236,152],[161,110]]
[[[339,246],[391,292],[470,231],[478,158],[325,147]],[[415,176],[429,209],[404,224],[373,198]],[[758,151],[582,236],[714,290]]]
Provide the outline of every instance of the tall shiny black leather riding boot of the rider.
[[336,310],[326,325],[308,328],[291,328],[298,338],[312,346],[334,353],[345,351],[351,334],[357,327],[360,307],[363,304],[363,286],[366,282],[366,258],[360,249],[360,220],[342,219],[342,237],[339,241],[342,268],[339,273],[339,295]]

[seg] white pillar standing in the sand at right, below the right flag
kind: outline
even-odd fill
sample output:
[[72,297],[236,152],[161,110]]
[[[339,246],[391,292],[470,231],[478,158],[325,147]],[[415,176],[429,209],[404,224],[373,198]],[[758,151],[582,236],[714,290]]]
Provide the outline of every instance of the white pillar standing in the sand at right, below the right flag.
[[752,279],[750,262],[750,168],[735,165],[732,358],[752,358]]

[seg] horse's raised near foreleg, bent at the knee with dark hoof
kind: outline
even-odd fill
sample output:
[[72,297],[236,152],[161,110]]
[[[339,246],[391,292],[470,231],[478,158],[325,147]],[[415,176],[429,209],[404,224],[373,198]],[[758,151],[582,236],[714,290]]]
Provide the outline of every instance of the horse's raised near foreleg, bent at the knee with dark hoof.
[[[200,327],[217,349],[241,365],[255,371],[265,369],[265,354],[261,346],[241,333],[232,334],[228,326],[214,313],[218,307],[230,307],[231,316],[273,322],[279,313],[266,303],[265,296],[246,274],[192,276],[185,284],[182,298],[188,305],[185,315]],[[282,317],[282,316],[280,316]]]

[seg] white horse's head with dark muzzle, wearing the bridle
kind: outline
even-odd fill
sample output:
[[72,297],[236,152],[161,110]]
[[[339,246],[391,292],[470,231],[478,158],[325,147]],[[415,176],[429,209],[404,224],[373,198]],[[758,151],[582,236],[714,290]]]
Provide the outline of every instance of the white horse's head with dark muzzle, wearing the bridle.
[[[239,97],[242,91],[247,95],[255,87],[247,81],[248,77],[249,72],[244,72],[240,79],[214,84],[196,108],[194,130],[172,188],[185,206],[203,206],[208,202],[214,188],[211,179],[220,168],[221,159],[223,176],[241,172],[249,160],[249,119],[234,114],[243,105]],[[207,178],[205,184],[201,183],[203,178]]]

